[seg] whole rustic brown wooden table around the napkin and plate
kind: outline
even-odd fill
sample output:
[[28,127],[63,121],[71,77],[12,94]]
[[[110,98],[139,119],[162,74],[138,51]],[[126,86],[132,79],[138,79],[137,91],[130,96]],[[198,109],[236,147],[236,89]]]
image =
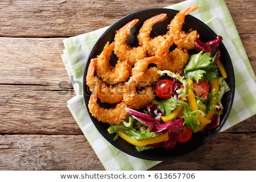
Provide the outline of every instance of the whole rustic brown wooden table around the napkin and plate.
[[[26,0],[0,3],[0,170],[104,170],[67,101],[75,96],[63,40],[124,15],[181,1]],[[256,2],[226,1],[256,72]],[[67,86],[60,86],[61,81]],[[63,94],[65,93],[65,94]],[[201,150],[152,170],[255,170],[256,117]]]

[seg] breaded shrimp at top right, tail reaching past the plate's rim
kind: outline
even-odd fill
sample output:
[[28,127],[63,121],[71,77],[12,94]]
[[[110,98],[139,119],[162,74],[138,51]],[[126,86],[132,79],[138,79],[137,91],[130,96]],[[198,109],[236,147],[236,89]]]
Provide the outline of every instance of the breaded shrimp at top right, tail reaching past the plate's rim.
[[195,39],[198,38],[196,30],[189,30],[185,32],[182,30],[185,16],[192,13],[198,8],[196,5],[187,7],[184,10],[179,11],[171,23],[168,25],[168,35],[174,38],[174,43],[180,49],[193,49],[195,48]]

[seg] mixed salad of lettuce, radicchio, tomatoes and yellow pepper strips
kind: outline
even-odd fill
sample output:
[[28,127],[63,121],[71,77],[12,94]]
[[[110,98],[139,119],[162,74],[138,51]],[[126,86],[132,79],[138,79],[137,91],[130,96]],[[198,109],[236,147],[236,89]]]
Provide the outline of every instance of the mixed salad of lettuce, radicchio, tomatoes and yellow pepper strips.
[[221,36],[209,42],[196,39],[196,52],[183,70],[158,71],[156,99],[143,110],[126,107],[129,118],[108,128],[109,134],[133,144],[138,151],[188,142],[193,134],[220,125],[221,98],[228,92],[218,48]]

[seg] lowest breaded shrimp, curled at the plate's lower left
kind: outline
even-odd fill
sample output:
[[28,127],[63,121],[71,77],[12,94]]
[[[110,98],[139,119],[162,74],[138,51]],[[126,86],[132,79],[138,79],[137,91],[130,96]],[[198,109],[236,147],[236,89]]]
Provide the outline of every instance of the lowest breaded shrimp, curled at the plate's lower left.
[[105,109],[97,103],[96,94],[90,96],[88,107],[92,116],[104,123],[118,125],[121,120],[128,116],[125,110],[125,107],[127,107],[125,102],[120,102],[113,108]]

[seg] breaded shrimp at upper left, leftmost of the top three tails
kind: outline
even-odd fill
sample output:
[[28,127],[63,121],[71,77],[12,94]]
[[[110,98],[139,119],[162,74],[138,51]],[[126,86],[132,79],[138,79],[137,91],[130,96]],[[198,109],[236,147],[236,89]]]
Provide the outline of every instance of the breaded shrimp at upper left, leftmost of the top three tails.
[[138,23],[139,19],[131,20],[125,24],[122,28],[115,32],[114,37],[114,53],[121,61],[128,61],[129,64],[133,65],[139,59],[147,57],[146,50],[144,47],[130,47],[126,41],[129,40],[130,30]]

